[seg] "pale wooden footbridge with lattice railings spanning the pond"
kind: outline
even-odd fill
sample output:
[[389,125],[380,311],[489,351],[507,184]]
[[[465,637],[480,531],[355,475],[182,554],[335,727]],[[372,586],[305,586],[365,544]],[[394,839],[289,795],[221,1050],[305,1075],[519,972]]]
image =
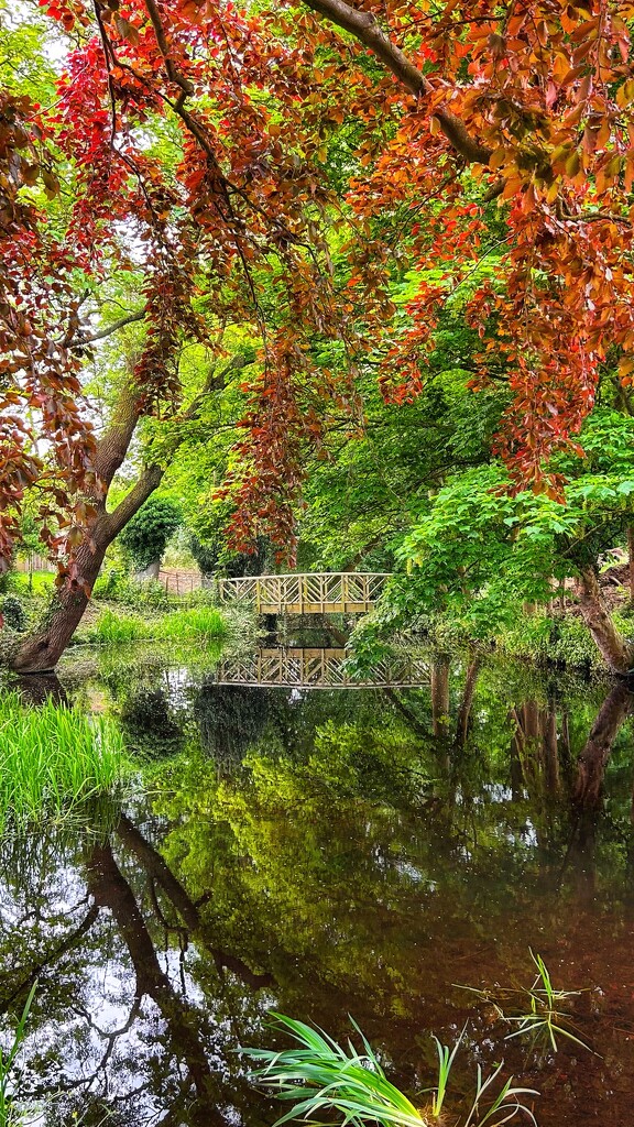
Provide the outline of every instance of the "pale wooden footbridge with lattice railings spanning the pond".
[[309,571],[220,579],[223,603],[248,602],[259,614],[366,614],[382,592],[384,571]]

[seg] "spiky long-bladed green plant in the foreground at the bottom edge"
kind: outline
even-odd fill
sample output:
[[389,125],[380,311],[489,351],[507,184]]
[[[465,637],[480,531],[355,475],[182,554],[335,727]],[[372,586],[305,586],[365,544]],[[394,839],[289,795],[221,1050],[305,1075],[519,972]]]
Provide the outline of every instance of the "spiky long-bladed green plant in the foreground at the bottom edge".
[[[247,1048],[243,1051],[259,1067],[252,1073],[261,1086],[272,1090],[281,1100],[292,1101],[290,1111],[278,1119],[275,1127],[291,1119],[312,1120],[324,1111],[334,1111],[343,1127],[432,1127],[439,1122],[447,1093],[447,1084],[463,1035],[452,1050],[435,1039],[439,1057],[439,1074],[430,1104],[417,1108],[386,1076],[381,1064],[363,1036],[359,1026],[352,1024],[359,1033],[363,1050],[358,1051],[349,1039],[345,1047],[338,1045],[320,1029],[303,1021],[297,1021],[281,1013],[272,1014],[274,1028],[291,1035],[299,1047],[281,1049]],[[352,1020],[352,1019],[351,1019]],[[463,1030],[464,1033],[464,1030]],[[502,1065],[483,1080],[478,1067],[476,1094],[467,1118],[457,1120],[461,1127],[501,1127],[517,1115],[523,1113],[535,1124],[529,1108],[520,1102],[520,1095],[536,1095],[532,1089],[513,1088],[512,1077],[490,1107],[481,1112],[483,1097],[488,1094]]]

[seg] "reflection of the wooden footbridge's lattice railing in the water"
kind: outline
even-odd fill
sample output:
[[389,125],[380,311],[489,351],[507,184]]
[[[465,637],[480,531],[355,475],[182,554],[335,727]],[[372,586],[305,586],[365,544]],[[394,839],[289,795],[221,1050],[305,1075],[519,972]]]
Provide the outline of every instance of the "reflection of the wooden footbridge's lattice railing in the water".
[[377,662],[363,676],[346,672],[346,649],[276,646],[256,649],[246,657],[226,658],[215,669],[221,685],[287,685],[305,689],[353,689],[390,685],[429,685],[426,657],[394,654]]

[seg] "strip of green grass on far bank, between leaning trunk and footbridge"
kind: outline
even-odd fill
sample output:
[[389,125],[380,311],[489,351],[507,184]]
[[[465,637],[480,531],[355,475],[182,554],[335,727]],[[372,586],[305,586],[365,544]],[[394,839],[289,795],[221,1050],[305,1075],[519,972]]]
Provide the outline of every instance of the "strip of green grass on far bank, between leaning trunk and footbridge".
[[139,614],[118,614],[109,607],[102,612],[86,640],[98,645],[130,641],[200,641],[224,638],[227,622],[215,606],[194,606],[170,611],[156,619]]

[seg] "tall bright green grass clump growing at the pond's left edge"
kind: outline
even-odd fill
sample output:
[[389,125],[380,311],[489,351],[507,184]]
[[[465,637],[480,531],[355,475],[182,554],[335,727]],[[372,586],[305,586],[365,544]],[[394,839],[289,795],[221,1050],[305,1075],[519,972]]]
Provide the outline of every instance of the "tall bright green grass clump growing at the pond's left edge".
[[60,817],[121,783],[125,766],[114,721],[47,702],[0,696],[0,832]]

